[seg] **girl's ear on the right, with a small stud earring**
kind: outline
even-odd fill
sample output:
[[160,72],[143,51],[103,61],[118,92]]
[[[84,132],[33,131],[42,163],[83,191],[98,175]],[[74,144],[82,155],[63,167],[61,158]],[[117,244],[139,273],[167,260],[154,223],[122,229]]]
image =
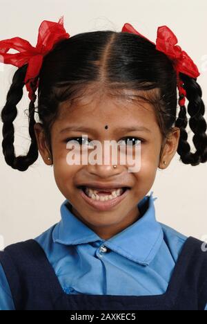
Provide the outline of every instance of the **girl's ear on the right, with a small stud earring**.
[[[179,136],[180,129],[178,127],[173,127],[172,131],[170,132],[170,134],[168,134],[167,138],[164,141],[159,161],[159,169],[166,169],[170,164],[170,161],[177,152]],[[164,161],[166,161],[166,164],[164,164]]]

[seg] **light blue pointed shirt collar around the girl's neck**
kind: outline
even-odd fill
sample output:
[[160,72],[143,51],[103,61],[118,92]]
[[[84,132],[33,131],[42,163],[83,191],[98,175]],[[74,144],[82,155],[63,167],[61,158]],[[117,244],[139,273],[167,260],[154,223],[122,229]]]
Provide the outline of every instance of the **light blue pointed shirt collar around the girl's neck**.
[[155,218],[154,201],[157,197],[152,198],[152,193],[137,204],[141,218],[109,240],[101,239],[81,222],[72,213],[70,201],[66,199],[60,208],[61,221],[52,232],[53,242],[72,245],[101,241],[112,251],[139,264],[147,265],[155,258],[164,237],[161,224]]

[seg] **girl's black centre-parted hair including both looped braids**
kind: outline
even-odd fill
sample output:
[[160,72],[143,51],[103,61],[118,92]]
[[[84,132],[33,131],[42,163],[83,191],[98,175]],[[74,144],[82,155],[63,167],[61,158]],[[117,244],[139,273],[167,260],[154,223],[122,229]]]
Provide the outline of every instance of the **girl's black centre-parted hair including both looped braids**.
[[[177,153],[185,164],[198,165],[207,161],[206,120],[201,87],[195,78],[179,73],[184,82],[188,99],[189,126],[192,129],[195,152],[190,152],[186,126],[186,107],[178,107],[177,75],[172,61],[144,37],[132,33],[110,30],[80,33],[58,42],[43,57],[39,73],[37,107],[30,101],[29,134],[31,144],[26,156],[14,154],[14,126],[17,104],[23,96],[23,80],[28,64],[14,73],[1,111],[3,121],[3,154],[12,168],[27,170],[38,158],[37,140],[34,134],[34,114],[43,125],[52,156],[50,129],[59,114],[59,104],[79,100],[88,89],[106,89],[111,96],[123,95],[123,89],[131,89],[136,98],[148,100],[155,107],[157,121],[163,138],[180,128]],[[37,77],[37,78],[38,78]],[[134,91],[135,90],[135,91]],[[177,108],[179,114],[177,116]],[[160,152],[161,156],[161,152]]]

